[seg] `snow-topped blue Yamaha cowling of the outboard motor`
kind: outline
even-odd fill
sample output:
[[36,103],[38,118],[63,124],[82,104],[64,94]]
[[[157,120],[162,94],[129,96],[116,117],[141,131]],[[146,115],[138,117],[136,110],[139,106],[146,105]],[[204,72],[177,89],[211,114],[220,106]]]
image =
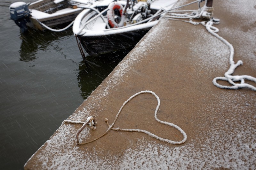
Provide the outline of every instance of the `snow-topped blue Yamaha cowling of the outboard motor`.
[[15,2],[10,5],[11,19],[16,21],[29,15],[28,4],[25,2]]

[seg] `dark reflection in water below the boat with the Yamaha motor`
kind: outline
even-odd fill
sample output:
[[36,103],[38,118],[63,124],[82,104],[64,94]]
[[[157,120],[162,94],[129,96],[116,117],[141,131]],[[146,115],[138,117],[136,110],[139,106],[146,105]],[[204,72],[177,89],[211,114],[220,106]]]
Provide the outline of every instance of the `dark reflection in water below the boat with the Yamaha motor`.
[[28,32],[21,33],[20,61],[28,62],[35,60],[38,50],[46,49],[52,41],[62,39],[67,35],[72,36],[71,29],[57,33],[49,30],[38,31],[29,29]]

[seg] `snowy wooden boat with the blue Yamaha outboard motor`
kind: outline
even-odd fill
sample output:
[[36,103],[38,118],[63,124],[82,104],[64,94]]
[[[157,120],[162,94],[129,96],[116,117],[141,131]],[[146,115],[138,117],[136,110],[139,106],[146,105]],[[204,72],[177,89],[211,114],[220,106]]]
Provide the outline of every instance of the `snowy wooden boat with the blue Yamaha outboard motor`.
[[97,0],[38,0],[33,3],[15,2],[10,5],[11,19],[24,32],[61,27],[73,22],[85,7],[95,7]]

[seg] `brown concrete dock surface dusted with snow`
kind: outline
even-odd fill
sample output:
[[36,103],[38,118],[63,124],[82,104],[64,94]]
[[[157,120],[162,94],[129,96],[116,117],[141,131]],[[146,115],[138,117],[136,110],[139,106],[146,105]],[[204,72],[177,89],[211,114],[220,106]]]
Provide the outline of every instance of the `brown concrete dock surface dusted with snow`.
[[[234,75],[256,77],[256,2],[214,0],[213,6],[214,17],[220,19],[215,25],[218,34],[233,45],[234,61],[243,61]],[[228,47],[204,26],[163,19],[69,119],[84,122],[96,117],[97,129],[80,133],[81,142],[89,141],[108,129],[104,118],[112,123],[125,100],[151,90],[161,100],[158,118],[178,125],[187,141],[172,145],[143,133],[110,130],[92,143],[76,145],[82,125],[64,123],[24,168],[256,169],[256,92],[214,86],[213,78],[228,68]],[[114,128],[144,129],[182,140],[177,129],[156,122],[156,105],[150,94],[135,97]]]

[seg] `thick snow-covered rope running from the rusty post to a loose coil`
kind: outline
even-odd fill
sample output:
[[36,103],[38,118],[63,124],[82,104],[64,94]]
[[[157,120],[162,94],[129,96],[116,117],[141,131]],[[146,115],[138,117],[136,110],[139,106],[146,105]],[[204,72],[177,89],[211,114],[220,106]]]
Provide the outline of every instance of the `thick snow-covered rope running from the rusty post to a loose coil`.
[[[206,1],[207,2],[207,1]],[[206,4],[206,3],[205,3]],[[245,83],[245,80],[250,80],[252,82],[256,83],[256,78],[248,75],[236,75],[233,76],[232,74],[234,73],[235,69],[242,65],[243,62],[239,60],[237,63],[234,62],[234,47],[224,38],[220,37],[217,33],[219,32],[219,29],[214,27],[213,24],[218,24],[219,19],[212,18],[212,10],[211,8],[207,7],[206,5],[203,6],[201,11],[193,11],[192,14],[176,14],[176,13],[168,13],[168,15],[162,17],[165,19],[172,19],[172,20],[178,20],[178,21],[183,21],[183,22],[189,22],[194,25],[202,24],[203,26],[206,27],[207,31],[211,33],[213,36],[218,38],[220,41],[224,42],[228,48],[230,49],[230,55],[229,55],[229,63],[230,67],[227,72],[225,72],[224,76],[225,77],[216,77],[212,80],[212,83],[223,89],[239,89],[239,88],[249,88],[253,91],[256,91],[256,87],[253,85],[250,85],[248,83]],[[185,11],[183,11],[185,12]],[[187,20],[180,20],[180,19],[186,19],[188,18],[189,21]],[[209,18],[209,21],[202,21],[202,22],[195,22],[192,19],[194,18]],[[218,80],[223,80],[223,81],[228,81],[231,86],[227,85],[220,85],[217,83]],[[240,83],[235,83],[235,82],[240,82]]]

